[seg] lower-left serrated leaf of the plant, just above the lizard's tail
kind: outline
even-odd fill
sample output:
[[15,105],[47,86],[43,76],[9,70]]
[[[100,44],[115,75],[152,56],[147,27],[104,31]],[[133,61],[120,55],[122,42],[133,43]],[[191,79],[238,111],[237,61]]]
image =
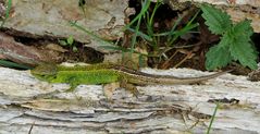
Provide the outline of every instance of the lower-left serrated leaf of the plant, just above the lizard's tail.
[[214,70],[216,68],[225,66],[232,61],[228,47],[221,47],[221,45],[211,47],[207,52],[206,58],[207,70]]

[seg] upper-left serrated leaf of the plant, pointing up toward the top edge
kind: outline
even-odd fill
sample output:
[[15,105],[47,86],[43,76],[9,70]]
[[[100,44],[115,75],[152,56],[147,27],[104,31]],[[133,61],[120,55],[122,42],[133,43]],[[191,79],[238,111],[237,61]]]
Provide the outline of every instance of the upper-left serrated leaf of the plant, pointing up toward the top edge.
[[202,17],[206,20],[205,24],[213,34],[222,35],[232,27],[231,16],[219,9],[209,4],[202,4]]

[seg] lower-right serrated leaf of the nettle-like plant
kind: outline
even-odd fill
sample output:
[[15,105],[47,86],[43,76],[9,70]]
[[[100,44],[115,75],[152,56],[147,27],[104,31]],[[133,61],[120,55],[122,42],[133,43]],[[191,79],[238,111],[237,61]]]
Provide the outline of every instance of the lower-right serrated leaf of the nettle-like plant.
[[235,60],[238,60],[242,65],[249,66],[252,70],[258,69],[257,65],[257,54],[252,48],[252,45],[249,44],[249,40],[245,40],[244,38],[234,39],[233,44],[231,44],[230,51],[232,57]]

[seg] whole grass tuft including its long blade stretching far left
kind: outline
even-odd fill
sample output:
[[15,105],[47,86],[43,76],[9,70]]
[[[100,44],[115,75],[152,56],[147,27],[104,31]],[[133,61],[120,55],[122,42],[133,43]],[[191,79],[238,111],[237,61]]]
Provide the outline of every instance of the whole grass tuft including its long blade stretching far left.
[[[174,23],[173,27],[168,32],[156,32],[153,29],[154,26],[154,14],[158,11],[158,8],[162,4],[162,0],[157,1],[152,12],[150,12],[151,1],[150,0],[143,0],[141,1],[141,11],[134,17],[126,26],[124,26],[123,31],[128,31],[133,33],[131,37],[131,46],[128,48],[124,48],[121,46],[117,46],[113,42],[109,42],[107,40],[103,40],[98,35],[96,35],[94,32],[90,32],[83,26],[78,25],[76,22],[70,22],[70,24],[83,32],[85,32],[88,36],[92,37],[92,39],[96,39],[100,41],[100,47],[106,49],[112,49],[112,50],[120,50],[122,51],[122,54],[124,52],[129,53],[138,53],[139,58],[144,57],[150,57],[156,59],[161,59],[162,57],[168,59],[168,56],[165,54],[169,50],[174,48],[174,44],[176,44],[176,40],[191,32],[195,27],[198,26],[198,23],[194,23],[194,20],[198,15],[196,13],[194,17],[183,26],[183,28],[177,29],[177,26],[179,22],[182,21],[182,17],[178,17],[177,21]],[[140,31],[141,23],[145,23],[146,29],[145,32]],[[165,39],[166,38],[166,39]],[[165,40],[165,42],[162,42],[161,40]],[[139,52],[135,48],[138,42],[147,42],[143,44],[146,45],[144,48],[149,48],[149,52]],[[163,45],[162,45],[163,44]]]

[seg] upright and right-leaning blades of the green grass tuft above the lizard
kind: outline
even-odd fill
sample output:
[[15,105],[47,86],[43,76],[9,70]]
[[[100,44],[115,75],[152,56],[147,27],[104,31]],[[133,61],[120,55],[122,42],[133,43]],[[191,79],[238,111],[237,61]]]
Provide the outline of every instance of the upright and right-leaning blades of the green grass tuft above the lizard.
[[[165,53],[169,50],[172,50],[172,48],[174,48],[176,40],[181,36],[191,32],[191,29],[198,26],[198,23],[194,23],[194,20],[197,17],[198,12],[181,29],[177,29],[177,26],[183,19],[182,16],[176,20],[173,27],[169,32],[159,33],[153,29],[153,25],[154,25],[154,15],[159,7],[162,4],[162,0],[157,1],[151,13],[148,11],[150,2],[151,2],[150,0],[144,0],[141,3],[143,8],[140,13],[129,24],[125,26],[125,29],[134,33],[134,36],[132,37],[131,51],[134,52],[133,49],[136,47],[137,37],[140,37],[141,39],[145,40],[145,42],[147,42],[148,46],[146,47],[151,48],[147,57],[153,57],[159,59],[161,59],[161,57],[166,58]],[[141,21],[144,21],[146,24],[147,31],[145,32],[139,31]],[[165,40],[163,45],[161,40]]]

